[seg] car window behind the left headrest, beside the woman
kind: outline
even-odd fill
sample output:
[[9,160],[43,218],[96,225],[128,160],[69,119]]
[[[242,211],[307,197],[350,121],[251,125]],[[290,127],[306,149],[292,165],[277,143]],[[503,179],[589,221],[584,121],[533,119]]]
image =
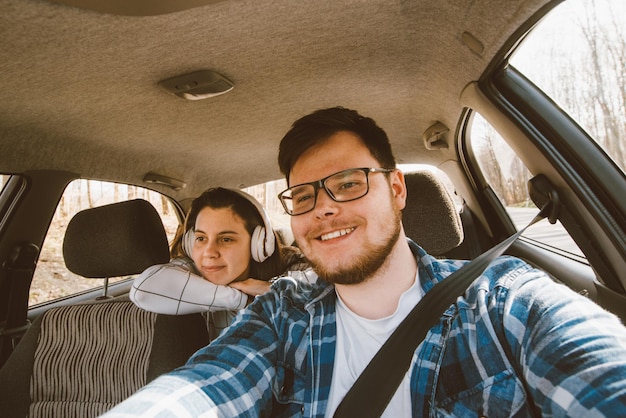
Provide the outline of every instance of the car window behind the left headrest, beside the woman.
[[[168,241],[171,243],[179,219],[174,205],[165,196],[125,184],[82,179],[71,182],[59,201],[41,248],[30,287],[29,306],[102,287],[104,280],[82,278],[65,267],[62,251],[65,229],[70,219],[83,209],[137,198],[152,203],[161,215]],[[109,283],[123,279],[126,277],[109,278]]]

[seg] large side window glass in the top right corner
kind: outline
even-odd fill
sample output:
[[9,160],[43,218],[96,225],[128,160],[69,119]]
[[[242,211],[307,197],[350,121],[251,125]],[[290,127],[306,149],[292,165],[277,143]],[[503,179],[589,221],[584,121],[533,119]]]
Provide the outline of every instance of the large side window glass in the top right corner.
[[563,2],[510,62],[626,171],[626,1]]

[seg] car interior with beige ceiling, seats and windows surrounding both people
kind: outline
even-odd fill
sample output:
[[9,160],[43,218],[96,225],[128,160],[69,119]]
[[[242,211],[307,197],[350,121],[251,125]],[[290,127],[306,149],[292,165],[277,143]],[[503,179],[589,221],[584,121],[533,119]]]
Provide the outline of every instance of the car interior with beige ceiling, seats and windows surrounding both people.
[[254,195],[297,245],[278,144],[333,106],[387,132],[428,253],[475,259],[550,204],[506,254],[626,323],[621,0],[0,10],[1,415],[98,416],[206,345],[202,314],[130,302],[133,277],[209,187]]

